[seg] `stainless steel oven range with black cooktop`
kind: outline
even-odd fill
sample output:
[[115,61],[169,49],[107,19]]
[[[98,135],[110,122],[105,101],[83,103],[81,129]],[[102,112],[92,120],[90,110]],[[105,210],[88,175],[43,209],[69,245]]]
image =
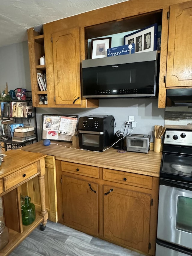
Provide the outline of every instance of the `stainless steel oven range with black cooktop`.
[[156,256],[192,255],[192,131],[167,129],[163,143]]

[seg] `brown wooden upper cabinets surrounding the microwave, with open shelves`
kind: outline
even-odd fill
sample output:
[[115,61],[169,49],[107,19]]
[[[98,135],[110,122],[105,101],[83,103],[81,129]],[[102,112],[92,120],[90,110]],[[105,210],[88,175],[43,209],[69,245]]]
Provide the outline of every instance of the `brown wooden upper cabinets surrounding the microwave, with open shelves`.
[[[158,107],[165,108],[167,89],[192,88],[191,13],[192,1],[129,0],[46,23],[43,35],[39,35],[41,40],[29,29],[35,107],[98,107],[98,100],[82,98],[81,62],[89,58],[88,39],[157,23],[162,26]],[[37,63],[42,55],[45,66]],[[37,72],[46,72],[46,92],[38,87]],[[39,105],[39,95],[47,95],[47,105]]]

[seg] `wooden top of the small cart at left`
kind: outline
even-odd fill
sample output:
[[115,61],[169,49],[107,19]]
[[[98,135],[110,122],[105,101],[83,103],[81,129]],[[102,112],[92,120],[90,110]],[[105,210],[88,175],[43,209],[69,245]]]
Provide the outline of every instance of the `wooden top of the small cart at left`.
[[5,155],[4,162],[0,166],[0,178],[46,157],[45,153],[31,153],[21,149],[6,151]]

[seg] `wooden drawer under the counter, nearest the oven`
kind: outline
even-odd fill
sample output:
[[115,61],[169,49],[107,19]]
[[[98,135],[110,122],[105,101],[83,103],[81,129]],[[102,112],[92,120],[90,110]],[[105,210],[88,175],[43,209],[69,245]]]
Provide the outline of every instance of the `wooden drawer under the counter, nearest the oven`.
[[103,179],[135,187],[152,189],[152,177],[147,175],[127,173],[104,168]]

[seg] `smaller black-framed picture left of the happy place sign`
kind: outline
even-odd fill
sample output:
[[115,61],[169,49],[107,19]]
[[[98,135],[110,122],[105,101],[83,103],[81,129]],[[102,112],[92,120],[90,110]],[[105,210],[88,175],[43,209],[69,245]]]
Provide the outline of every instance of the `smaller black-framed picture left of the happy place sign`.
[[107,57],[107,49],[111,47],[111,37],[91,39],[91,59]]

